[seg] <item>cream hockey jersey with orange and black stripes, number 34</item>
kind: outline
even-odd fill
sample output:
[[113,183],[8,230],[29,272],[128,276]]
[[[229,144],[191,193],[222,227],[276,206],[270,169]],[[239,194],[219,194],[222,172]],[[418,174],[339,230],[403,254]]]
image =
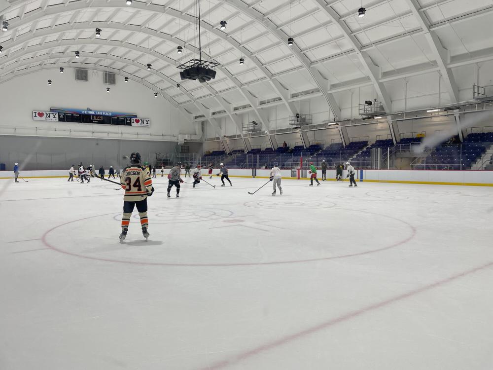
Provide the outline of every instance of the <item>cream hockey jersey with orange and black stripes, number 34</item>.
[[152,188],[149,168],[139,165],[125,167],[120,175],[120,184],[125,189],[123,200],[137,202],[147,198],[147,191]]

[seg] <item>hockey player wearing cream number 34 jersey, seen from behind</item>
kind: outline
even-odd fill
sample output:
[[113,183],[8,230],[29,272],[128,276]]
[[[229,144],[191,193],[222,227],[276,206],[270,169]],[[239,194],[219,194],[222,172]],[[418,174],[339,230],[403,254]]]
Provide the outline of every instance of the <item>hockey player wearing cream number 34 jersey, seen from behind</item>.
[[130,165],[125,167],[120,175],[120,184],[125,189],[123,196],[123,216],[122,216],[122,233],[120,234],[120,243],[125,240],[130,224],[130,217],[137,207],[141,219],[142,235],[145,240],[149,237],[147,228],[147,197],[154,192],[152,187],[151,174],[149,168],[141,166],[141,154],[134,152],[130,154]]

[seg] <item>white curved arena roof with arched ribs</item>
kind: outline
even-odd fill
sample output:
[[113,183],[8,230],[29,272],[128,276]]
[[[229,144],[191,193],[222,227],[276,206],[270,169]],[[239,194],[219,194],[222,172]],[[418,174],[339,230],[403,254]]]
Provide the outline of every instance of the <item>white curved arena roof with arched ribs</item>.
[[334,94],[359,86],[373,86],[390,111],[385,82],[431,71],[457,102],[451,69],[493,59],[491,0],[201,0],[203,58],[220,63],[206,84],[181,81],[176,69],[197,56],[197,0],[0,0],[2,8],[9,27],[0,32],[0,82],[95,68],[133,76],[176,106],[212,111],[269,99],[294,111],[289,99],[303,92],[340,117]]

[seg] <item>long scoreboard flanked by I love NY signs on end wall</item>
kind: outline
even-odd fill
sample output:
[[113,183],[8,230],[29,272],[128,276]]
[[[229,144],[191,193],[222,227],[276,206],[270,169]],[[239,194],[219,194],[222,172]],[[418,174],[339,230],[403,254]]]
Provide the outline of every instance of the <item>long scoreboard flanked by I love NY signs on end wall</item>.
[[138,118],[137,114],[74,110],[50,108],[50,111],[33,111],[33,119],[36,121],[58,121],[72,123],[91,123],[119,126],[141,126],[150,127],[150,120]]

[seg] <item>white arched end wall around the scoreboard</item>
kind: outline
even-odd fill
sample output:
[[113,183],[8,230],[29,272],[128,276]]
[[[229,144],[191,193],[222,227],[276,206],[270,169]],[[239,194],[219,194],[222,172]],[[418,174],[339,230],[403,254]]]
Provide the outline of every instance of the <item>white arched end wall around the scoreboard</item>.
[[[74,73],[71,68],[66,68],[64,74],[42,70],[0,84],[0,134],[145,140],[175,140],[180,133],[200,135],[197,123],[189,121],[162,96],[154,98],[154,92],[138,82],[125,83],[117,75],[116,85],[109,86],[111,90],[106,93],[103,73],[89,71],[88,82],[75,81]],[[48,79],[53,81],[51,86]],[[135,113],[149,118],[151,127],[33,120],[33,111],[49,111],[50,107]],[[65,131],[68,129],[71,132]]]

